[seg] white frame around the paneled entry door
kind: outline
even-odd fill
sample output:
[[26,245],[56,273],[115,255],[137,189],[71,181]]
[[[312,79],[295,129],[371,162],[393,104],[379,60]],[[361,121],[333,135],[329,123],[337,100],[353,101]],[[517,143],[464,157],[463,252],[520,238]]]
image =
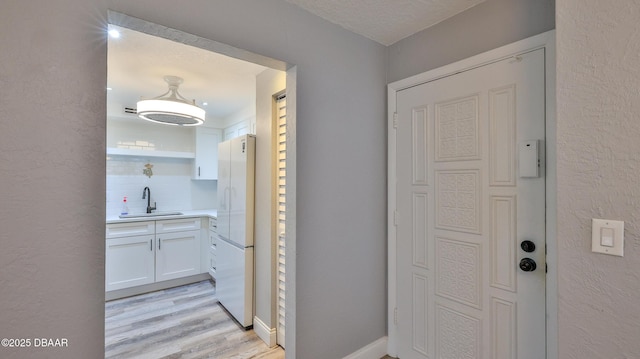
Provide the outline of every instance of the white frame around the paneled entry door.
[[396,261],[396,95],[398,91],[414,87],[460,72],[478,68],[523,52],[545,49],[545,190],[546,190],[546,352],[547,359],[558,358],[558,300],[557,300],[557,238],[556,238],[556,34],[547,31],[470,58],[454,62],[387,85],[387,353],[396,356],[397,325],[397,261]]

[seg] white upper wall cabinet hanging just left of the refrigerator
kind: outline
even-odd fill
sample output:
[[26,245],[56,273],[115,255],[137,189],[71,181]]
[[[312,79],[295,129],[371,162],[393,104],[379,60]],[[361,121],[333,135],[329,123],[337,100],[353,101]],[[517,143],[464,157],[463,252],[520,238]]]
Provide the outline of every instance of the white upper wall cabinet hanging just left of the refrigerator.
[[194,160],[193,179],[218,179],[218,142],[222,138],[220,130],[208,127],[197,127],[196,157]]

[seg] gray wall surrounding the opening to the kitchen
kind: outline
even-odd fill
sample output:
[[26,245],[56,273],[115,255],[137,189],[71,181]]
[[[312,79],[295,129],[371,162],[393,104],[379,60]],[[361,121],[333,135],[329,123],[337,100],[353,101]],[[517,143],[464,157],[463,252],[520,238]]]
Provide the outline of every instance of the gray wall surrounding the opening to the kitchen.
[[386,49],[277,0],[3,2],[3,358],[103,355],[107,8],[298,65],[298,358],[385,335]]

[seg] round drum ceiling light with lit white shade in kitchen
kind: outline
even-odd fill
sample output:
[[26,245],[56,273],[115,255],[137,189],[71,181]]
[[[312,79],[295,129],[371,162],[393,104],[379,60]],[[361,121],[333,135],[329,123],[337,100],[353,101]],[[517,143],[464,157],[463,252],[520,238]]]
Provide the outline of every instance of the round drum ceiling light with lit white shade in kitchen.
[[169,91],[150,100],[140,100],[138,116],[144,120],[176,126],[197,126],[204,123],[204,110],[178,93],[181,77],[165,76]]

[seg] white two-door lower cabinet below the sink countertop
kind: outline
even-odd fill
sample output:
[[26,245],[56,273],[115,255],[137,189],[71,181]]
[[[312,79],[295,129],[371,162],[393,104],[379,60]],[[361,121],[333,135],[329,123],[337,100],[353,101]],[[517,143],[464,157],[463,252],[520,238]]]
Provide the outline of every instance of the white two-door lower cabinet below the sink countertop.
[[108,224],[105,290],[200,273],[200,218]]

